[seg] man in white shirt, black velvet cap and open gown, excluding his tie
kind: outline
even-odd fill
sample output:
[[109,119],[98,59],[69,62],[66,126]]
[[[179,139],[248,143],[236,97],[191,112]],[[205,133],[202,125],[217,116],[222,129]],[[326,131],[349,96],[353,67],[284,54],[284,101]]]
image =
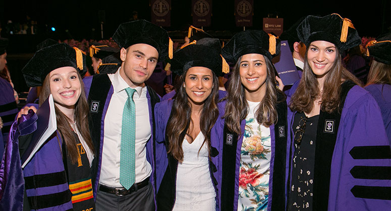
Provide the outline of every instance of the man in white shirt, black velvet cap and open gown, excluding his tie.
[[[144,82],[159,59],[169,54],[167,32],[145,20],[121,24],[113,36],[121,47],[122,65],[115,74],[84,79],[90,104],[90,130],[95,147],[92,180],[97,210],[155,210],[156,160],[153,108],[160,97]],[[120,183],[123,111],[126,88],[136,91],[134,184]],[[164,150],[165,151],[165,150]],[[124,161],[123,161],[124,162]],[[128,161],[126,161],[128,162]]]

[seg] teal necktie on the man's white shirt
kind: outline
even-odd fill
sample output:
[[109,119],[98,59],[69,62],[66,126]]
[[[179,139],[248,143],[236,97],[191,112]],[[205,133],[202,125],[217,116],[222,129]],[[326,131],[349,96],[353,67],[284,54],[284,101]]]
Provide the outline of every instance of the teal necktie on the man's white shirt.
[[121,131],[121,162],[120,162],[120,183],[127,190],[135,182],[135,152],[136,142],[136,106],[133,101],[133,94],[136,91],[130,87],[125,89],[128,94],[122,113]]

